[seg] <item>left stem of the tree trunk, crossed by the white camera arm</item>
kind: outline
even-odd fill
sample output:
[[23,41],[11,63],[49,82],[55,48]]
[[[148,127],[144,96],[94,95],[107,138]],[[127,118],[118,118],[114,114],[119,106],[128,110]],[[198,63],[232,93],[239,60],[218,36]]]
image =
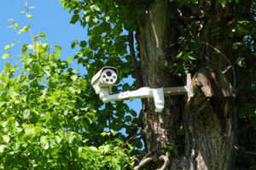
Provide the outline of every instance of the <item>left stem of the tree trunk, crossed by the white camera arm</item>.
[[[167,88],[177,85],[177,80],[169,72],[172,57],[165,52],[168,45],[177,40],[177,29],[172,27],[167,18],[168,10],[167,1],[153,3],[145,12],[143,26],[137,32],[144,87]],[[181,100],[171,97],[165,100],[164,111],[156,113],[154,100],[143,99],[141,117],[146,131],[144,142],[148,152],[158,151],[164,154],[161,153],[164,145],[177,139],[174,132],[177,132],[181,122]]]

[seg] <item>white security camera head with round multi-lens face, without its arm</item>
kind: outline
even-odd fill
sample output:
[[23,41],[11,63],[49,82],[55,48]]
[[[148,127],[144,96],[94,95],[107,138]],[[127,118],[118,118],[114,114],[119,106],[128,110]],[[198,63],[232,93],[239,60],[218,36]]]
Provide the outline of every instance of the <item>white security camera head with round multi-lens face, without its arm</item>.
[[100,99],[102,99],[111,93],[112,87],[116,81],[117,69],[112,66],[105,66],[92,77],[91,84],[96,94],[99,94]]

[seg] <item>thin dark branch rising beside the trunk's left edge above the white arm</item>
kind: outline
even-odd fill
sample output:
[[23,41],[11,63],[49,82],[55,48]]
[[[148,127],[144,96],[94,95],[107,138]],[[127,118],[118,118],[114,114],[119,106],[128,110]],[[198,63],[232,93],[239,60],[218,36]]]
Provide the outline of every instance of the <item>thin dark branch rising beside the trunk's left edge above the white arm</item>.
[[129,32],[128,38],[129,38],[129,48],[130,48],[132,69],[135,75],[135,79],[137,81],[137,88],[141,88],[143,87],[143,82],[142,82],[142,78],[140,77],[139,70],[137,68],[137,59],[136,59],[135,50],[134,50],[133,32]]

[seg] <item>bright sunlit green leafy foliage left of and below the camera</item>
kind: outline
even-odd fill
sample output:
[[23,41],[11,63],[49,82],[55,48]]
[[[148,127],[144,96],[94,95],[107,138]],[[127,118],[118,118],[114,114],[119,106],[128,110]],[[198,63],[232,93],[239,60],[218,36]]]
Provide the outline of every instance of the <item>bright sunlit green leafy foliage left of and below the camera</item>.
[[[29,20],[27,4],[25,8]],[[19,26],[10,21],[18,37],[31,33],[29,25],[17,30]],[[102,108],[90,81],[69,66],[73,58],[59,59],[61,47],[51,48],[38,37],[44,40],[46,35],[32,36],[31,44],[20,40],[20,61],[7,63],[0,74],[0,169],[133,167],[133,146],[124,142],[122,133],[115,133],[127,127],[119,117],[130,111],[128,107],[119,106],[108,133],[106,117],[114,109]],[[10,53],[14,45],[5,46],[2,59],[16,59]]]

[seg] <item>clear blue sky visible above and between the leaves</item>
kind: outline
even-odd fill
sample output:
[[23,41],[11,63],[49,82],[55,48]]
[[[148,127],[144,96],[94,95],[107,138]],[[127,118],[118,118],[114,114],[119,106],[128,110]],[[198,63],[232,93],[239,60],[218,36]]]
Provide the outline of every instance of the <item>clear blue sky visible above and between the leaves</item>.
[[[86,30],[76,25],[70,25],[72,15],[68,14],[68,10],[64,10],[58,0],[27,0],[28,6],[34,6],[36,8],[30,9],[29,13],[33,15],[31,19],[31,28],[33,36],[39,32],[46,34],[49,46],[59,45],[62,48],[61,58],[68,59],[76,54],[78,48],[71,48],[71,42],[75,39],[87,40]],[[9,57],[8,59],[2,60],[2,55],[7,51],[4,50],[4,46],[11,44],[14,41],[19,41],[19,38],[15,34],[13,28],[7,28],[12,23],[9,19],[14,19],[15,23],[19,25],[19,29],[27,26],[27,19],[25,14],[20,14],[24,8],[25,0],[8,0],[2,2],[2,8],[0,10],[0,72],[3,70],[3,66],[9,62],[12,65],[14,61]],[[22,32],[20,34],[21,41],[23,43],[31,43],[31,37],[28,32]],[[11,50],[12,55],[15,57],[20,54],[20,44],[16,43],[14,48]],[[16,61],[18,62],[17,57]],[[73,64],[73,68],[76,69],[77,65]],[[128,80],[128,82],[131,80]],[[137,113],[141,110],[142,105],[139,99],[135,99],[132,102],[127,101],[128,105]]]

